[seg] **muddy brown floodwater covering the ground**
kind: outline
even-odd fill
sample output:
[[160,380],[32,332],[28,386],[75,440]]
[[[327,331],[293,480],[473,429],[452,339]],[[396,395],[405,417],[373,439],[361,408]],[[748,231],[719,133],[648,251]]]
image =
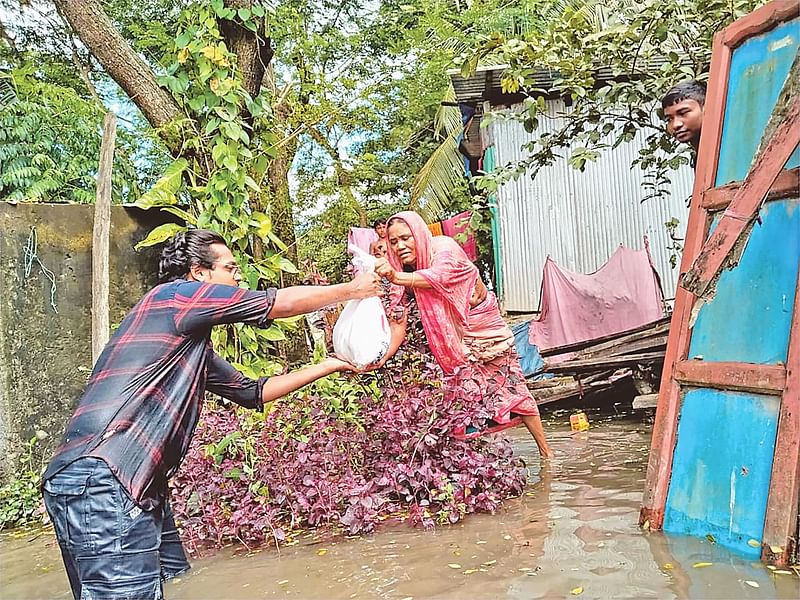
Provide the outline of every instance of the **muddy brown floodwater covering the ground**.
[[[167,584],[167,597],[800,597],[795,574],[775,574],[706,540],[637,528],[650,439],[640,419],[596,417],[575,435],[564,421],[547,424],[557,457],[542,467],[525,431],[511,434],[531,483],[495,515],[435,531],[395,524],[369,537],[309,536],[280,553],[226,549],[194,561],[190,574]],[[36,535],[2,538],[0,597],[70,597],[52,535]],[[712,565],[692,566],[699,562]]]

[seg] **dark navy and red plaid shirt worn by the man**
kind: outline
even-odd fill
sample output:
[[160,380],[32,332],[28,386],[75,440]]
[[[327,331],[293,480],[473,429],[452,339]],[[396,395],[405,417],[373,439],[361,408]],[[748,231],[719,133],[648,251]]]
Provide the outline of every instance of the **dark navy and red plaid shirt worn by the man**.
[[214,353],[210,336],[220,323],[268,326],[275,294],[182,279],[150,290],[97,359],[43,479],[93,456],[142,508],[157,506],[189,447],[206,390],[263,407],[266,378],[239,373]]

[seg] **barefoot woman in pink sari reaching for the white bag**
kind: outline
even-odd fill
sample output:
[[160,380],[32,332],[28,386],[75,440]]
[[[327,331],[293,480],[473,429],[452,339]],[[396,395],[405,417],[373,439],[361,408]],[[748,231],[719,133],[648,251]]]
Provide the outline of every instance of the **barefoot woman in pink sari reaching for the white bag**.
[[405,338],[404,307],[407,294],[413,293],[428,345],[448,387],[477,399],[490,417],[456,435],[476,437],[522,422],[539,453],[552,456],[536,401],[525,385],[514,335],[475,265],[455,240],[433,237],[422,217],[412,211],[389,219],[387,240],[388,256],[378,260],[375,271],[393,284],[388,311],[392,342],[378,366]]

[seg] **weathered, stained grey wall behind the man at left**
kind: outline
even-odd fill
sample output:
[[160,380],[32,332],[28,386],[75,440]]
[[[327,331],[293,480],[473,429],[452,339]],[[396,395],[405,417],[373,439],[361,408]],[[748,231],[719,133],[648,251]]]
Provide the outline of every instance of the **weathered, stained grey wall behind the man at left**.
[[[20,450],[37,431],[49,459],[91,370],[92,221],[94,207],[0,202],[0,479],[17,468]],[[135,251],[159,211],[114,206],[111,211],[112,327],[156,282],[158,248]],[[35,228],[38,261],[26,275],[26,248]],[[28,260],[28,262],[30,262]]]

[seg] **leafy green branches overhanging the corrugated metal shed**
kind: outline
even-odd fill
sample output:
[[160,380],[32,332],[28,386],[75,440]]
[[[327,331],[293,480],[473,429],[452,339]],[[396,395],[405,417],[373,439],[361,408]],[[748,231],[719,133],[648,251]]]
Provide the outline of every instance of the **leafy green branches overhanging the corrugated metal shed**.
[[[485,60],[508,64],[503,88],[527,96],[519,115],[527,131],[536,132],[546,118],[544,96],[565,98],[571,106],[558,115],[561,127],[525,146],[527,158],[483,178],[481,186],[494,191],[511,177],[535,176],[564,154],[583,170],[600,150],[643,131],[646,146],[632,166],[649,176],[645,199],[660,195],[669,171],[688,163],[686,148],[660,120],[661,97],[679,81],[707,78],[714,33],[763,3],[625,0],[612,10],[600,0],[551,1],[540,3],[546,26],[535,35],[485,36],[465,57],[463,70],[474,72]],[[537,82],[543,71],[553,74],[547,88]]]

